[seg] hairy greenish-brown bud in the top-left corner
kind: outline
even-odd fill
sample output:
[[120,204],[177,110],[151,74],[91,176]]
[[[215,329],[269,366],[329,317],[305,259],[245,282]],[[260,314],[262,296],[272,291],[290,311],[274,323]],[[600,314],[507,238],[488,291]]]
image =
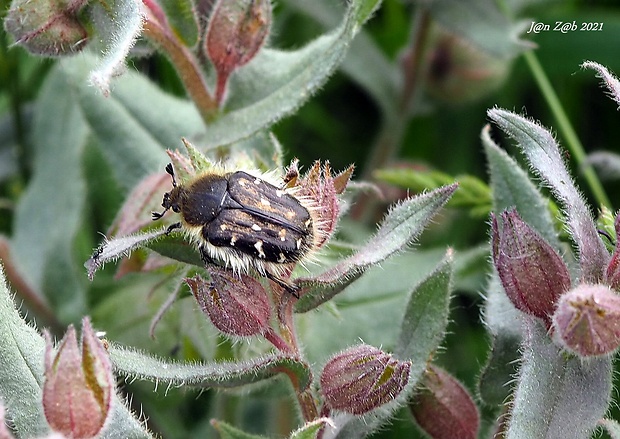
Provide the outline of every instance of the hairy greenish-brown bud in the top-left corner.
[[31,53],[60,56],[82,50],[88,39],[78,19],[85,0],[17,0],[4,20],[7,32]]

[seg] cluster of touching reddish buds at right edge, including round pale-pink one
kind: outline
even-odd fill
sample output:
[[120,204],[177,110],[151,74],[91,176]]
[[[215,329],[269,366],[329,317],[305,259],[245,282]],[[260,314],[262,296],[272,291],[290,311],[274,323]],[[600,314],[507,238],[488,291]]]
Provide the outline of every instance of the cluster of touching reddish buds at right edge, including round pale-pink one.
[[[618,234],[619,220],[615,221]],[[493,262],[506,295],[520,311],[542,319],[555,340],[582,357],[620,347],[619,245],[604,283],[572,285],[561,256],[512,210],[492,217]]]

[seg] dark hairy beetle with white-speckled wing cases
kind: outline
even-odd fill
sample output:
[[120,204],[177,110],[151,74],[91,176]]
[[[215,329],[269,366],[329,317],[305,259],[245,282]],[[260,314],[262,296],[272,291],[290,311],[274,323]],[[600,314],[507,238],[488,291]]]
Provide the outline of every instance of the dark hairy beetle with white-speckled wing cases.
[[172,164],[166,166],[172,190],[163,197],[162,212],[179,213],[182,229],[197,244],[205,263],[221,261],[235,272],[250,269],[287,290],[297,287],[279,276],[312,250],[316,230],[311,203],[286,187],[245,171],[206,172],[178,184]]

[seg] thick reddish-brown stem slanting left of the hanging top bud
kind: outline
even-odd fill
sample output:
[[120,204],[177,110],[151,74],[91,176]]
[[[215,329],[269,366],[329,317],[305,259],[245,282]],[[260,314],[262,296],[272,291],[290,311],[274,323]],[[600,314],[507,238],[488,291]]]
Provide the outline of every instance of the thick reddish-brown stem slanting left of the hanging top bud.
[[218,106],[209,93],[196,58],[150,11],[144,21],[143,33],[168,54],[185,90],[198,108],[202,119],[208,124],[217,115]]

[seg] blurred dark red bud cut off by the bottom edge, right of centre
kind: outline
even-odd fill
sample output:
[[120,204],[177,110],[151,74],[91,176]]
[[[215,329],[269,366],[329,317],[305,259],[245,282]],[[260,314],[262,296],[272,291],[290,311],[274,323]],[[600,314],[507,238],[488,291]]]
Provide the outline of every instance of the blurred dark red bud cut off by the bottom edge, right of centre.
[[480,415],[467,390],[437,366],[424,373],[421,389],[409,405],[418,425],[433,439],[475,439]]

